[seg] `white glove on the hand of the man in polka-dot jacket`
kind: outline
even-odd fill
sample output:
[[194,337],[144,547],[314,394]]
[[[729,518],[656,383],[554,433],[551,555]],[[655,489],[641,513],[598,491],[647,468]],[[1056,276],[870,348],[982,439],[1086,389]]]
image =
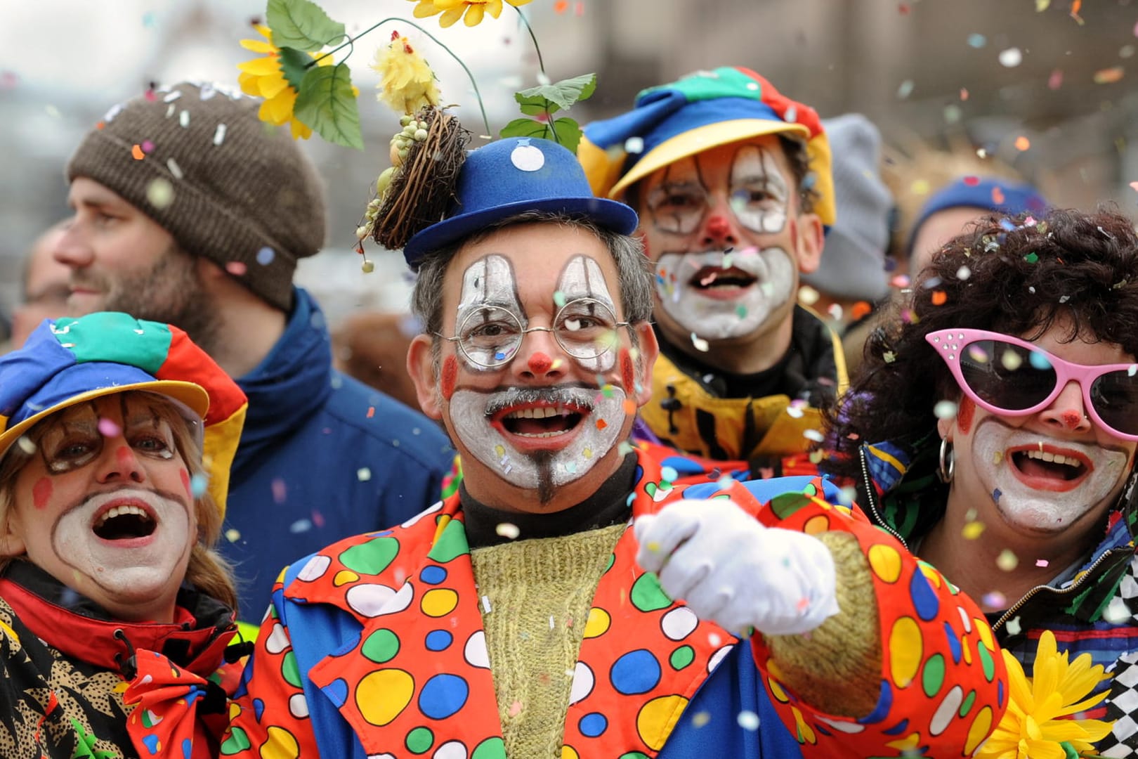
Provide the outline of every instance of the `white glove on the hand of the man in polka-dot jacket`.
[[805,533],[764,527],[727,498],[676,501],[634,523],[636,562],[731,633],[813,630],[838,613],[834,559]]

